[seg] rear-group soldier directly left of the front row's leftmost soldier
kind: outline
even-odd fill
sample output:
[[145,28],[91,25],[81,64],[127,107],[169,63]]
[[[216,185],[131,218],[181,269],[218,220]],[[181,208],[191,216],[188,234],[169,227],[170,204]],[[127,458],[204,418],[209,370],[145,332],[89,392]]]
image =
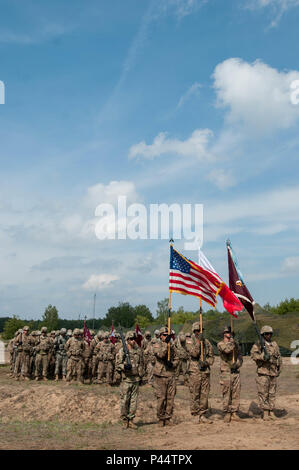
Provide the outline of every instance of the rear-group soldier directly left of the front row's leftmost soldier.
[[109,339],[108,331],[104,333],[103,341],[95,347],[95,354],[99,360],[97,383],[103,383],[106,379],[106,382],[111,385],[113,383],[115,348]]

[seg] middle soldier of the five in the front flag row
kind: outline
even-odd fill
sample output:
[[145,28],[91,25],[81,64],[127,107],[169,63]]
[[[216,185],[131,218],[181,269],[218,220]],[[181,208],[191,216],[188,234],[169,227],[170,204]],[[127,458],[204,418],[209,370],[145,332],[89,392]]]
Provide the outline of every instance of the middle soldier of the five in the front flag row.
[[200,332],[199,322],[193,323],[192,331],[193,335],[186,340],[186,349],[189,353],[188,385],[191,395],[191,414],[199,416],[199,423],[210,424],[212,421],[206,413],[210,392],[210,367],[214,364],[214,352],[210,341]]

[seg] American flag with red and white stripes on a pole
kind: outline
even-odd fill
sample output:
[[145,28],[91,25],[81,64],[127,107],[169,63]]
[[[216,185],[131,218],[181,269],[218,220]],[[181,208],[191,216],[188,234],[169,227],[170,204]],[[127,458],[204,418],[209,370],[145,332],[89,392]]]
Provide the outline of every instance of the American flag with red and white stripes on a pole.
[[217,273],[203,269],[170,247],[169,292],[195,295],[216,308],[224,282]]

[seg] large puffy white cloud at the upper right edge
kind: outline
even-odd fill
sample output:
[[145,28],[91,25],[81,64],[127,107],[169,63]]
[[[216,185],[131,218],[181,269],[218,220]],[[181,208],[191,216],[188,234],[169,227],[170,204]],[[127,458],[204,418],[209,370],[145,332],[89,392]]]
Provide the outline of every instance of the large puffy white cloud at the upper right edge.
[[214,74],[217,106],[228,109],[229,124],[244,125],[256,133],[288,129],[299,120],[299,106],[291,102],[291,83],[299,71],[278,71],[257,60],[252,64],[231,58]]

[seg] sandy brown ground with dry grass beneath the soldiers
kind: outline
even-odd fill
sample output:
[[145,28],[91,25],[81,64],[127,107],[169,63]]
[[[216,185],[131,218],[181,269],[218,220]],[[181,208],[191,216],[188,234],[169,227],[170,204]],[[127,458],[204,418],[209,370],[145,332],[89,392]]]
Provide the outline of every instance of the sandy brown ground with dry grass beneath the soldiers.
[[211,377],[212,424],[190,415],[189,390],[178,385],[175,425],[160,428],[153,389],[140,387],[137,430],[119,423],[119,389],[107,385],[18,382],[0,368],[0,449],[299,449],[299,366],[284,358],[277,420],[263,422],[257,407],[255,366],[241,373],[241,422],[223,423],[219,362]]

